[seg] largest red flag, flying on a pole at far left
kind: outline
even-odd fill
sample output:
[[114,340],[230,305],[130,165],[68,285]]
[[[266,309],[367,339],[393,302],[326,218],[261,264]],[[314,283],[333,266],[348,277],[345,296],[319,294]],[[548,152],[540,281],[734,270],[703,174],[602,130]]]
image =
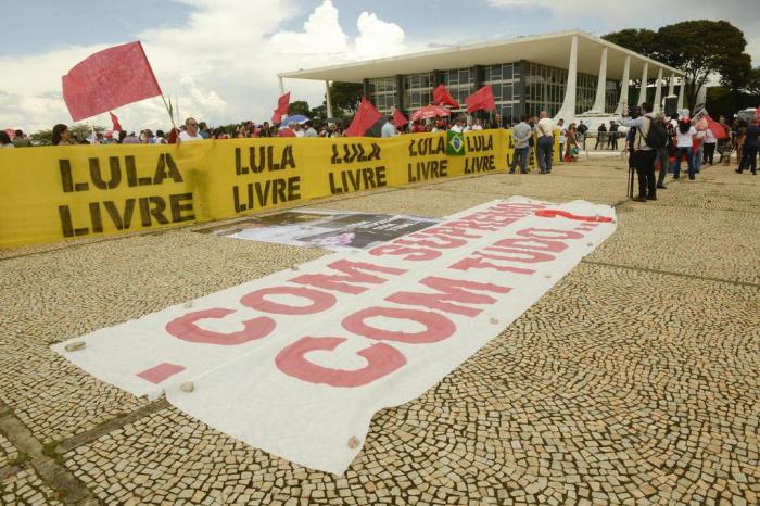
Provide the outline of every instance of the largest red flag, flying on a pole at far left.
[[139,41],[91,54],[61,79],[75,122],[162,94]]

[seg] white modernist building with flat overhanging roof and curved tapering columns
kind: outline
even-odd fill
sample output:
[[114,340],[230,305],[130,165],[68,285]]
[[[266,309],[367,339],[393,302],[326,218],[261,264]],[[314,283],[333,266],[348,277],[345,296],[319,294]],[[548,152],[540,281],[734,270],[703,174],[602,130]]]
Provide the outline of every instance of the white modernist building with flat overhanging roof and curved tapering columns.
[[[663,86],[668,96],[677,86],[682,109],[684,89],[681,71],[581,30],[299,69],[278,77],[281,90],[283,79],[362,83],[364,94],[383,113],[394,107],[409,113],[428,105],[433,88],[441,84],[464,106],[465,98],[491,85],[496,112],[507,123],[541,110],[566,121],[609,117],[647,98],[657,110]],[[332,116],[329,93],[327,106]]]

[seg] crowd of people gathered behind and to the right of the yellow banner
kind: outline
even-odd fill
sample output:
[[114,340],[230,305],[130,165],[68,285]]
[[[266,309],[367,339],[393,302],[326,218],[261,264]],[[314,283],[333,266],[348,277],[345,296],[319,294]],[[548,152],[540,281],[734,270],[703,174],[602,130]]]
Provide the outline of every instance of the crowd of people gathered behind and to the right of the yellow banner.
[[[694,180],[702,164],[714,163],[718,153],[718,163],[730,164],[731,153],[737,153],[737,173],[749,169],[757,174],[757,156],[760,150],[760,121],[756,117],[752,122],[739,121],[730,125],[724,117],[720,117],[721,136],[717,136],[712,128],[708,127],[707,118],[695,118],[681,114],[679,118],[667,118],[663,113],[651,113],[651,105],[641,105],[641,114],[636,117],[622,117],[610,122],[609,128],[605,123],[597,128],[595,149],[618,149],[618,138],[625,136],[625,147],[630,153],[629,163],[638,173],[639,192],[636,200],[656,200],[657,189],[666,189],[667,174],[672,174],[674,179],[681,177],[681,166],[685,162],[688,179]],[[72,144],[173,144],[205,139],[240,139],[240,138],[267,138],[267,137],[322,137],[334,138],[344,136],[347,125],[338,122],[315,124],[312,119],[303,123],[289,122],[287,125],[270,124],[264,122],[243,122],[235,127],[212,128],[205,122],[197,122],[188,117],[185,124],[178,128],[172,128],[168,134],[163,130],[153,132],[143,129],[137,135],[127,131],[96,132],[90,131],[87,137],[75,138],[67,125],[58,124],[52,129],[51,143],[53,146]],[[619,130],[620,126],[629,127],[628,134]],[[653,126],[655,128],[653,129]],[[395,124],[394,116],[388,116],[378,135],[393,137],[403,134],[435,132],[435,131],[478,131],[492,128],[510,128],[514,137],[514,152],[509,172],[514,174],[517,166],[520,173],[528,172],[528,161],[531,149],[534,150],[540,174],[550,174],[553,167],[554,137],[559,136],[560,162],[574,162],[578,155],[585,149],[588,125],[580,121],[579,124],[565,125],[565,119],[554,122],[545,111],[539,116],[522,116],[519,123],[508,126],[501,115],[496,114],[491,119],[468,117],[457,114],[453,117],[433,117],[414,121],[401,127]],[[660,138],[655,139],[651,132],[659,132]],[[31,142],[22,130],[0,130],[0,148],[26,148]],[[650,142],[653,144],[650,144]],[[606,143],[606,148],[605,148]],[[655,170],[659,169],[659,176],[655,178]]]

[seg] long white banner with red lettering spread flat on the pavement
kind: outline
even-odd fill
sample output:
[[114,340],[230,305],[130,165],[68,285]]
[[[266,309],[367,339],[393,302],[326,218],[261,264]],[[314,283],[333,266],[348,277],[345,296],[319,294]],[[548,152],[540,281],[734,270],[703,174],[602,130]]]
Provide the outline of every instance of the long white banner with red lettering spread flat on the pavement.
[[103,381],[165,391],[233,438],[340,475],[377,410],[433,387],[615,228],[609,206],[494,201],[53,349]]

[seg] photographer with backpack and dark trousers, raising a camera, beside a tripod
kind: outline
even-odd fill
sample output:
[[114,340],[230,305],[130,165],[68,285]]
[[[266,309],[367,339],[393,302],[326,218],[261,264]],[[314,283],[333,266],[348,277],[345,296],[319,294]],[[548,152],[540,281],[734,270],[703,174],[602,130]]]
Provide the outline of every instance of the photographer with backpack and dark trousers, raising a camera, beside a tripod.
[[[637,113],[641,111],[641,115]],[[655,178],[655,159],[657,149],[667,146],[668,131],[651,115],[651,104],[642,103],[638,111],[629,109],[620,123],[629,128],[636,128],[632,142],[633,160],[638,174],[638,197],[636,202],[657,200],[657,179]]]

